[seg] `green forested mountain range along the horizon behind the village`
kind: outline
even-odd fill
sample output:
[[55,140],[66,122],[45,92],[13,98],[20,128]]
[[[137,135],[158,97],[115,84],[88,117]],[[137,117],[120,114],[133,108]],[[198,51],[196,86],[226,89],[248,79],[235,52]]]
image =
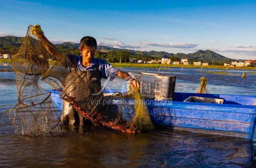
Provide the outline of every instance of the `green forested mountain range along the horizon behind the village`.
[[[0,47],[6,47],[6,46],[20,46],[24,37],[15,37],[15,36],[5,36],[5,37],[0,37]],[[77,49],[79,47],[78,43],[71,43],[71,42],[64,42],[62,44],[55,44],[56,46],[62,45],[62,47],[73,47]],[[184,54],[184,53],[168,53],[168,52],[163,52],[163,51],[135,51],[135,50],[128,50],[128,49],[118,49],[118,48],[113,48],[109,46],[102,46],[99,45],[97,47],[98,50],[101,52],[109,52],[109,51],[119,51],[119,50],[126,50],[130,52],[132,55],[146,55],[146,56],[152,56],[152,57],[158,57],[159,59],[163,57],[172,57],[176,56],[178,58],[188,58],[191,60],[203,60],[203,61],[214,61],[214,62],[231,62],[234,59],[230,59],[227,57],[224,57],[216,52],[210,51],[210,50],[198,50],[197,52],[189,53],[189,54]],[[243,60],[239,60],[243,61]]]

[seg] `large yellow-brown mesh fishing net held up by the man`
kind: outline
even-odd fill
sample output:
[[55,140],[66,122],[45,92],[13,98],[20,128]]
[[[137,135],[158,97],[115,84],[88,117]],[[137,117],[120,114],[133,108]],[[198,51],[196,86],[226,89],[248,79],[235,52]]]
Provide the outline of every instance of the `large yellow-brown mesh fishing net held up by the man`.
[[[18,53],[12,59],[18,101],[15,108],[6,113],[16,133],[37,136],[60,131],[60,118],[54,110],[51,92],[40,86],[40,79],[60,94],[65,108],[63,118],[64,112],[73,112],[78,113],[80,124],[88,119],[131,133],[154,129],[138,88],[125,94],[103,94],[102,87],[95,84],[99,81],[87,71],[76,71],[67,55],[48,44],[37,28],[28,27]],[[53,57],[56,61],[49,61]],[[70,123],[73,119],[69,117],[68,120]]]

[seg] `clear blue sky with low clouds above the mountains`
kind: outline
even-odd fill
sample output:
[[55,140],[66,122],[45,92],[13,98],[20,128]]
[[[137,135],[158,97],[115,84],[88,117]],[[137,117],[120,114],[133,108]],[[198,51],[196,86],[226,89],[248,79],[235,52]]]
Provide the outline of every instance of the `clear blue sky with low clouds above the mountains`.
[[117,48],[256,59],[256,1],[0,0],[0,9],[0,36],[40,24],[55,44],[93,36]]

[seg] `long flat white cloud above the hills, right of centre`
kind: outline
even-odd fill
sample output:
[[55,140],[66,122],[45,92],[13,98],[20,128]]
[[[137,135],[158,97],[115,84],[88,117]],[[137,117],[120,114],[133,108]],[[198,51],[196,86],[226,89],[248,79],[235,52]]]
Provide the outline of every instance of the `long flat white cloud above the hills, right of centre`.
[[136,41],[136,44],[144,44],[144,45],[151,45],[157,47],[167,47],[167,48],[195,48],[199,44],[187,44],[187,43],[152,43],[152,42],[145,42],[145,41]]

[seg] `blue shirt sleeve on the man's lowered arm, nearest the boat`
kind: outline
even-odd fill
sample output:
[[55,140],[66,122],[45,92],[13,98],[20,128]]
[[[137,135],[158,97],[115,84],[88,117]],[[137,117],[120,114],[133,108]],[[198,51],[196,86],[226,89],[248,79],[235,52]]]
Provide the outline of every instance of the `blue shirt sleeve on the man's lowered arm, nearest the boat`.
[[101,66],[102,66],[102,71],[101,71],[102,77],[110,81],[113,81],[119,69],[112,67],[112,65],[109,64],[107,61],[102,61]]

